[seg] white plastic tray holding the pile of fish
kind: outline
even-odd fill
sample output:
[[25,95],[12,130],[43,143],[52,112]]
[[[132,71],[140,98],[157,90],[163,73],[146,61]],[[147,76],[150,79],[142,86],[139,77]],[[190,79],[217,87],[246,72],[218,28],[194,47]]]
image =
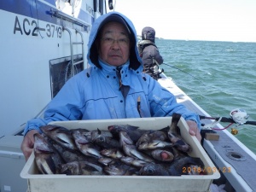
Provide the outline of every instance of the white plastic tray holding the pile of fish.
[[[68,129],[86,128],[88,130],[108,130],[108,125],[136,125],[140,129],[157,130],[171,125],[172,117],[141,119],[104,119],[55,121],[52,125],[61,125]],[[207,175],[182,175],[170,177],[152,176],[67,176],[42,175],[34,161],[34,154],[27,160],[20,177],[28,179],[28,192],[164,192],[164,191],[208,191],[213,179],[220,177],[215,171],[212,160],[201,147],[201,143],[189,135],[189,127],[181,118],[178,126],[183,139],[193,148],[190,156],[200,157]]]

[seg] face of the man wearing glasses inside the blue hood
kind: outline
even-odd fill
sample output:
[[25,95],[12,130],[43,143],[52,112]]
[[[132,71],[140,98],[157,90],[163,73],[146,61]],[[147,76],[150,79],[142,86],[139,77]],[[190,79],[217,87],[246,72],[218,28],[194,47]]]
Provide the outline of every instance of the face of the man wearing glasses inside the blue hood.
[[130,39],[125,26],[118,22],[109,22],[103,26],[99,55],[102,61],[112,66],[121,66],[130,56]]

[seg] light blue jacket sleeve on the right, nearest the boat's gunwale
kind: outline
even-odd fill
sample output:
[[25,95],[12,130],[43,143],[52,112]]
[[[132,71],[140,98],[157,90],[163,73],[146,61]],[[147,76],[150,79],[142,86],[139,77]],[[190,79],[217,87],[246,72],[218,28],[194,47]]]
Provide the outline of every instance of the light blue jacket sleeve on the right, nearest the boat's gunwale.
[[185,120],[193,120],[201,129],[201,121],[199,115],[189,111],[183,104],[177,103],[175,96],[157,81],[149,79],[148,99],[150,110],[153,117],[172,116],[172,113],[180,113]]

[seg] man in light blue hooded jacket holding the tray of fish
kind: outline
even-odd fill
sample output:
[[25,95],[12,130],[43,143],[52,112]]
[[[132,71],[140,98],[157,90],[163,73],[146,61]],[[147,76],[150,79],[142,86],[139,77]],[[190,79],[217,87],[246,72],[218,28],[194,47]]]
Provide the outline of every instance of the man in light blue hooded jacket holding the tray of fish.
[[125,15],[109,12],[95,21],[87,60],[90,67],[63,85],[49,102],[44,119],[26,123],[20,146],[26,160],[32,153],[33,135],[51,121],[149,118],[180,113],[189,125],[189,133],[201,140],[199,116],[177,103],[172,93],[143,73],[137,32]]

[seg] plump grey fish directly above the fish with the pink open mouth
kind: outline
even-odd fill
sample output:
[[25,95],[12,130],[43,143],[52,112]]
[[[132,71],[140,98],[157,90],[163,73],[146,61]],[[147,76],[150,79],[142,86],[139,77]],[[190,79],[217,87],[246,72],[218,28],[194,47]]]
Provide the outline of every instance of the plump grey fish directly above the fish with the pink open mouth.
[[173,143],[166,141],[167,138],[163,131],[147,131],[137,140],[136,145],[139,150],[173,147]]

